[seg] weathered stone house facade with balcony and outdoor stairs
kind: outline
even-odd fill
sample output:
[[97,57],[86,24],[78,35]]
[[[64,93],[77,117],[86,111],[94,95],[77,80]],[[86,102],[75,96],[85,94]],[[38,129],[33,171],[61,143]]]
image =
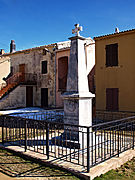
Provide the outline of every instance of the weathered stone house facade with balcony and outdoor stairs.
[[12,92],[1,98],[0,109],[55,106],[54,47],[55,44],[52,44],[1,55],[1,58],[10,58],[10,64],[3,64],[4,69],[11,70],[10,74],[9,71],[3,74],[6,82],[10,81],[11,84],[18,78],[21,82],[18,82]]

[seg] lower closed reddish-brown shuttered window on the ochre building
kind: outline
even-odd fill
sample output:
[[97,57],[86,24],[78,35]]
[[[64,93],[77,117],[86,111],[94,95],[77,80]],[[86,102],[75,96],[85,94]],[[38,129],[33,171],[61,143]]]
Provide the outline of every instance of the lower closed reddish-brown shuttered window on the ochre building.
[[106,110],[107,111],[118,111],[118,88],[107,88],[106,89]]

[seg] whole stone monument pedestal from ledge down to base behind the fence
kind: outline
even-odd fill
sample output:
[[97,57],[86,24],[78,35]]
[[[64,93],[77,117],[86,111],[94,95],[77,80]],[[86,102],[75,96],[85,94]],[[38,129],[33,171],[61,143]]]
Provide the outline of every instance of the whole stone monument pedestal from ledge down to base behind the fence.
[[[64,123],[72,126],[65,126],[71,132],[67,133],[67,140],[73,141],[76,147],[82,149],[87,146],[87,127],[92,125],[92,98],[93,94],[64,93]],[[78,144],[78,145],[77,145]]]

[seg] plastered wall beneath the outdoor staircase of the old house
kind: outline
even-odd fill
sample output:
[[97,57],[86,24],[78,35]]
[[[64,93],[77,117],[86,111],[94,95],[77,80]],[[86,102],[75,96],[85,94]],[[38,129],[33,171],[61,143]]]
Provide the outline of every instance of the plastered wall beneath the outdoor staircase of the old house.
[[0,100],[0,109],[13,109],[26,106],[26,87],[18,86]]

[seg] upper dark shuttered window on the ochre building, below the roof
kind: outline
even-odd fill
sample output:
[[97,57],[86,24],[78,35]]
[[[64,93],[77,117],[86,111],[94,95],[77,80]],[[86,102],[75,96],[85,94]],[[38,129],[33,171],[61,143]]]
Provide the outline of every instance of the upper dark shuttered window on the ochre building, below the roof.
[[106,67],[118,66],[118,44],[106,45]]

